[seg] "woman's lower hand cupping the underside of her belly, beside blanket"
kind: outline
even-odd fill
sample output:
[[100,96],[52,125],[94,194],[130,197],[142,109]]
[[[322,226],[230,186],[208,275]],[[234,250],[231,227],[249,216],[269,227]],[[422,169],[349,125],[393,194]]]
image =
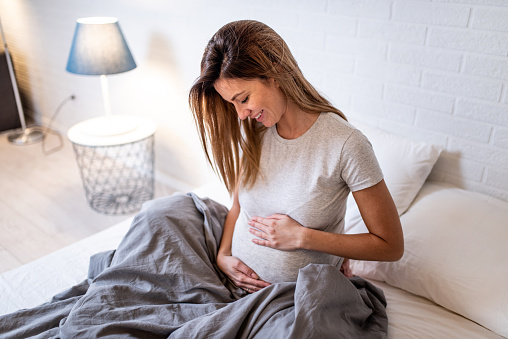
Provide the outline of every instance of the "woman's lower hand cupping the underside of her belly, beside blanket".
[[233,283],[248,293],[254,293],[269,286],[266,281],[259,279],[256,272],[245,265],[240,259],[231,255],[218,254],[217,265]]

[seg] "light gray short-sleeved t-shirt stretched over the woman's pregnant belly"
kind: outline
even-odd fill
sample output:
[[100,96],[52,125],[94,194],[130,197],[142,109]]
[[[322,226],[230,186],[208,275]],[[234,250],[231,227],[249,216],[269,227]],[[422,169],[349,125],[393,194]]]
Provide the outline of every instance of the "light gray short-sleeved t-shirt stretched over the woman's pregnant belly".
[[263,137],[260,168],[255,185],[239,190],[232,255],[269,283],[296,281],[310,263],[340,265],[342,258],[322,252],[256,245],[247,222],[278,213],[305,227],[342,233],[349,192],[383,179],[367,138],[333,113],[321,113],[296,139],[282,138],[274,126]]

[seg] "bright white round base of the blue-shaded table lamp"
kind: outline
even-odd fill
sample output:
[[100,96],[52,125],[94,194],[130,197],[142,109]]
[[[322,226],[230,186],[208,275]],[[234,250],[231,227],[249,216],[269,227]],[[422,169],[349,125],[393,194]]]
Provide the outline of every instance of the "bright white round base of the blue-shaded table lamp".
[[137,127],[135,121],[125,116],[105,116],[84,121],[81,130],[89,136],[107,137],[125,134]]

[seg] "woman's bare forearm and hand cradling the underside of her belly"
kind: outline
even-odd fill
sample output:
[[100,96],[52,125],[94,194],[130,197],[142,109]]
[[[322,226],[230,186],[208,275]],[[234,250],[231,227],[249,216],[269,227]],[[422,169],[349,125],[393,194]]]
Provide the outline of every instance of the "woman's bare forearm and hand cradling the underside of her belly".
[[239,214],[240,203],[238,201],[238,191],[236,191],[234,193],[233,206],[229,210],[226,221],[224,222],[222,239],[217,253],[217,265],[236,286],[247,292],[256,292],[270,284],[260,280],[258,275],[250,267],[245,265],[240,259],[231,255],[233,232]]

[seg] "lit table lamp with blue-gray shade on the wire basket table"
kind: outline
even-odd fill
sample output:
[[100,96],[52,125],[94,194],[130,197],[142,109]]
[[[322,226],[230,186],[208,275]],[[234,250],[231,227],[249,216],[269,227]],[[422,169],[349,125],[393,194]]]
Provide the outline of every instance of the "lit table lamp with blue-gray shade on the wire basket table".
[[136,124],[126,117],[113,116],[106,75],[136,68],[134,58],[123,37],[117,18],[91,17],[77,20],[67,71],[74,74],[99,75],[105,116],[90,119],[83,126],[91,136],[113,136],[127,133]]

